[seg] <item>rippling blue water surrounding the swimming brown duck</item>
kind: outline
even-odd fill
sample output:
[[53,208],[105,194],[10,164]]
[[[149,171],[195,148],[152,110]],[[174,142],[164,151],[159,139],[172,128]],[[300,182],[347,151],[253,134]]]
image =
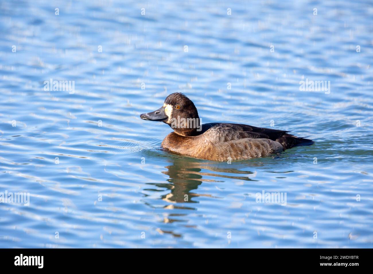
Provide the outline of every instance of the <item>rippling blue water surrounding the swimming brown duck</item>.
[[[30,199],[0,204],[0,247],[372,248],[372,19],[369,0],[1,1],[0,192]],[[316,143],[170,154],[170,128],[139,116],[176,91],[203,123]]]

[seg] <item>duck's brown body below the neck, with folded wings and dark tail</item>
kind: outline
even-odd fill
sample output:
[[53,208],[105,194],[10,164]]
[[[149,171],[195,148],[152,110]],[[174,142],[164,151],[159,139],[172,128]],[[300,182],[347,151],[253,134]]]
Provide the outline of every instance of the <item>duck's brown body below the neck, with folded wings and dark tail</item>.
[[197,136],[170,133],[162,147],[191,157],[213,160],[243,160],[266,157],[294,147],[304,140],[286,131],[231,123],[202,125]]

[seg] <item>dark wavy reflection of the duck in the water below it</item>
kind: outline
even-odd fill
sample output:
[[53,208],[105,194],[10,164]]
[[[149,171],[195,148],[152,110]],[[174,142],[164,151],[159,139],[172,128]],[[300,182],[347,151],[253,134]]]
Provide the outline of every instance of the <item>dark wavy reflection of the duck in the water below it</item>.
[[[167,171],[162,173],[168,175],[169,183],[154,183],[160,188],[169,189],[170,192],[162,196],[164,201],[170,203],[193,203],[197,202],[193,199],[195,196],[209,196],[209,193],[195,193],[203,182],[213,182],[219,187],[219,182],[224,182],[225,179],[252,181],[249,175],[253,174],[247,170],[247,163],[218,163],[212,161],[197,160],[188,157],[172,157],[169,158],[170,165],[166,166]],[[231,175],[232,174],[232,175]],[[169,207],[176,208],[176,205]],[[178,207],[184,209],[194,209],[192,207]]]

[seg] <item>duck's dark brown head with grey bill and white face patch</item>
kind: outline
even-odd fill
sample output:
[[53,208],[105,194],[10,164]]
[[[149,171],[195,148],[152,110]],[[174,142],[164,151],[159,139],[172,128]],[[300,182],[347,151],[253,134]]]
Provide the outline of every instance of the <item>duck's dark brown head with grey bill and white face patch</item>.
[[196,135],[201,130],[200,118],[193,102],[180,92],[167,96],[161,108],[140,115],[143,120],[166,123],[172,129],[184,136]]

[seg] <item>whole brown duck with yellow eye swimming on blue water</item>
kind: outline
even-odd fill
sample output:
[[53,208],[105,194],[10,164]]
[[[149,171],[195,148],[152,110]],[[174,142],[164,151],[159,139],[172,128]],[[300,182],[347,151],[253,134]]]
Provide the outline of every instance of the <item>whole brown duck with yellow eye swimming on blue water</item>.
[[181,92],[168,95],[162,107],[143,113],[140,118],[163,122],[173,129],[162,141],[164,150],[203,160],[267,157],[285,149],[314,144],[285,130],[236,123],[201,124],[194,103]]

